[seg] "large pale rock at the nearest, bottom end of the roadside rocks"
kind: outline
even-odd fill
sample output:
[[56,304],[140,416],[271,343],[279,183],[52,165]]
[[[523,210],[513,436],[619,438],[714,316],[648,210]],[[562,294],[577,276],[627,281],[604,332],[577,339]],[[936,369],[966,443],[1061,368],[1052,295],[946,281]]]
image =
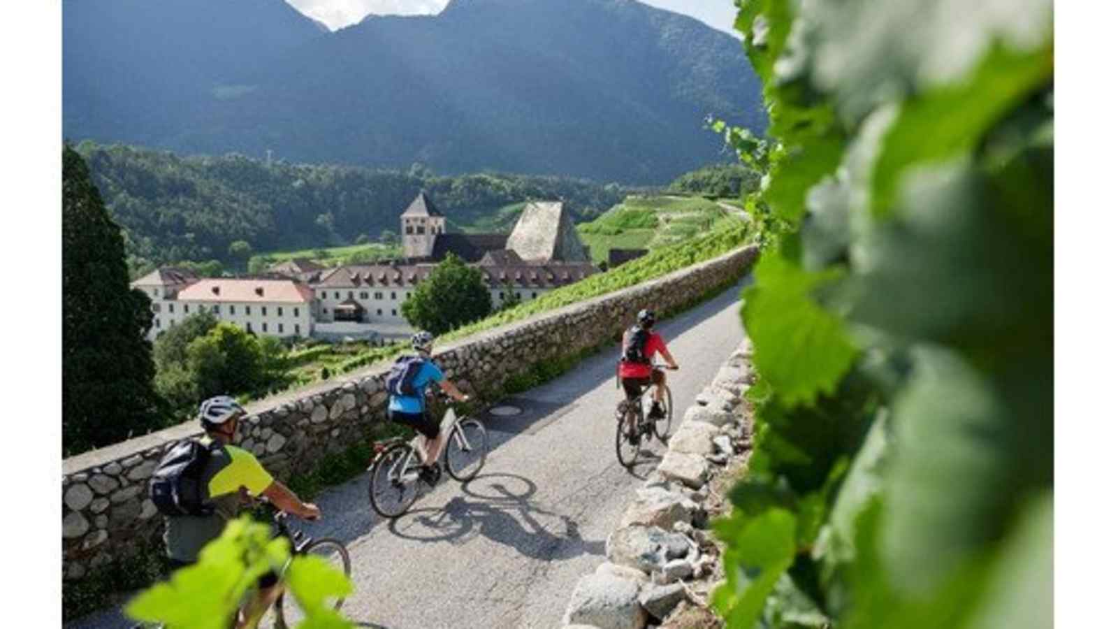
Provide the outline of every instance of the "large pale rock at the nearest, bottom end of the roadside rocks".
[[589,625],[598,629],[642,629],[647,612],[638,599],[636,581],[612,574],[584,576],[575,586],[563,625]]

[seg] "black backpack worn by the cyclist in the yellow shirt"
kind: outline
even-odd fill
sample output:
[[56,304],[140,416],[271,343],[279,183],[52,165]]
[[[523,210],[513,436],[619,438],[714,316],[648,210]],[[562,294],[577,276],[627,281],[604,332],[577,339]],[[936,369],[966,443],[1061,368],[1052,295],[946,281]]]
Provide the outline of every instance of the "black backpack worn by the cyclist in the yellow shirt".
[[209,462],[212,448],[195,439],[180,441],[171,447],[155,467],[148,482],[148,497],[155,509],[165,516],[208,516],[214,505],[205,499],[202,470]]

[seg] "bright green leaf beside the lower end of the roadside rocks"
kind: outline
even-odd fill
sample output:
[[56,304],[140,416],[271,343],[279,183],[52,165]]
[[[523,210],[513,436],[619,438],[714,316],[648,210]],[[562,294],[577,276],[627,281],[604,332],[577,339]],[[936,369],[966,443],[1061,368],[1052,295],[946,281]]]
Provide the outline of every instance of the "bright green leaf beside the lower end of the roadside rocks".
[[770,509],[745,519],[723,556],[727,581],[712,595],[712,603],[731,628],[752,629],[777,580],[793,562],[796,552],[796,517],[784,509]]

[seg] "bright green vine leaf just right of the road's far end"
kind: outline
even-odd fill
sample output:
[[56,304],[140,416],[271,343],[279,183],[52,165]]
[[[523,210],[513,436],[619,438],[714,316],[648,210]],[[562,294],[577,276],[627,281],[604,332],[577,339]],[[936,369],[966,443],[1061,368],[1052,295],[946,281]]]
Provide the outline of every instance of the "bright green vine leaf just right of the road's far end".
[[812,293],[842,278],[839,270],[807,272],[779,252],[761,257],[746,289],[742,321],[754,341],[754,363],[785,404],[811,403],[832,393],[858,350],[842,321]]

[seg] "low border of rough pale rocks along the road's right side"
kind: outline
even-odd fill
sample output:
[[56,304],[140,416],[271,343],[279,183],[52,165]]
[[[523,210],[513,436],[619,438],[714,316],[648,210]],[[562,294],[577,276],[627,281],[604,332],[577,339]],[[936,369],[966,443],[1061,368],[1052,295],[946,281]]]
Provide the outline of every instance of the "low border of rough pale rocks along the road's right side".
[[743,394],[751,355],[746,339],[683,414],[655,473],[606,539],[607,561],[575,585],[565,629],[719,626],[686,619],[686,608],[709,616],[705,598],[722,576],[721,551],[707,527],[724,510],[724,496],[711,480],[732,479],[750,448]]

